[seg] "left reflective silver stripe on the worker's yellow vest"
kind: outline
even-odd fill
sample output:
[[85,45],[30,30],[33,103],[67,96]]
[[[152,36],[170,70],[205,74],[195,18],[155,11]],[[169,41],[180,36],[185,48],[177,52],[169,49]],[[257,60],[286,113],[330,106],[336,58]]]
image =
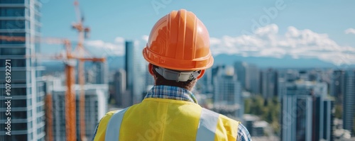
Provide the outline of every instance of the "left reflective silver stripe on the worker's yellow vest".
[[122,119],[127,109],[124,108],[124,110],[117,111],[112,115],[109,124],[107,124],[105,140],[119,140],[119,128],[121,128]]

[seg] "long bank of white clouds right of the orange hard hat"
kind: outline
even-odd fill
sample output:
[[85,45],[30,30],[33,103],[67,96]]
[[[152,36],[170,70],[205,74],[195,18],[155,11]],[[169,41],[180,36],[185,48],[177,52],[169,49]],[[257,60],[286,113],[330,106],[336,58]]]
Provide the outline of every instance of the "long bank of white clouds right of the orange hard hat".
[[[348,33],[354,30],[349,29],[346,30]],[[284,35],[279,35],[278,26],[271,24],[256,29],[253,35],[211,38],[210,44],[214,55],[277,58],[290,55],[294,58],[317,58],[336,65],[355,64],[355,47],[338,45],[327,34],[298,30],[293,26],[288,27]]]

